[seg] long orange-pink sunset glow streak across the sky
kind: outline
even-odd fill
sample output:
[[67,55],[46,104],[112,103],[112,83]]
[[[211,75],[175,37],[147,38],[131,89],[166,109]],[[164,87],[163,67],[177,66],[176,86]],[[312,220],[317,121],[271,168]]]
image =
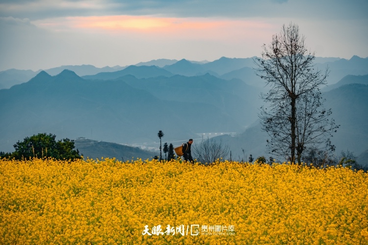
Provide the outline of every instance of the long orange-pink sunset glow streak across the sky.
[[205,18],[160,18],[149,16],[89,16],[49,19],[35,25],[58,29],[93,29],[106,31],[231,30],[234,28],[264,29],[268,24],[245,20],[211,20]]

